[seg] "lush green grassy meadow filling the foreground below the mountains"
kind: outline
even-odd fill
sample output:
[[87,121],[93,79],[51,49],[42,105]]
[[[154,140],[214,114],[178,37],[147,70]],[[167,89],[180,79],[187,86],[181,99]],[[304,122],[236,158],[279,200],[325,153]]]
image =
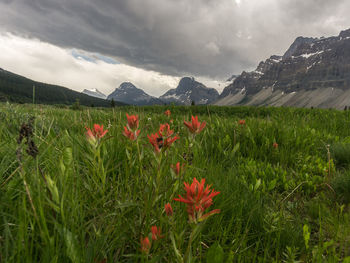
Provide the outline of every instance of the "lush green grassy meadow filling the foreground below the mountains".
[[350,262],[349,203],[350,111],[0,104],[0,262]]

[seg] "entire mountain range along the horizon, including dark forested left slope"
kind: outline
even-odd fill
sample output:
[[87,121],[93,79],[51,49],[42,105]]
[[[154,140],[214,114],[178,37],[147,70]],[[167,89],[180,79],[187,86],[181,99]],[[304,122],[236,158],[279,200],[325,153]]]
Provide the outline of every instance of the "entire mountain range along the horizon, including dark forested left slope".
[[[283,55],[261,61],[254,71],[243,71],[226,80],[219,95],[193,77],[184,77],[175,89],[159,98],[130,82],[123,82],[106,96],[97,89],[82,93],[35,82],[0,68],[0,100],[83,105],[261,105],[342,109],[350,106],[350,29],[333,37],[298,37]],[[107,100],[106,100],[107,99]],[[120,103],[119,103],[120,102]]]

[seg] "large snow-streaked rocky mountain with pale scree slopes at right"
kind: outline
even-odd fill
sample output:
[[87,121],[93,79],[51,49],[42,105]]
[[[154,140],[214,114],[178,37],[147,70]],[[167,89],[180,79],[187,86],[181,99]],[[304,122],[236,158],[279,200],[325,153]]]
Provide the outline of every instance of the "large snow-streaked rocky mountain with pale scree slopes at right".
[[242,72],[215,104],[344,108],[349,87],[350,29],[329,38],[298,37],[283,56]]

